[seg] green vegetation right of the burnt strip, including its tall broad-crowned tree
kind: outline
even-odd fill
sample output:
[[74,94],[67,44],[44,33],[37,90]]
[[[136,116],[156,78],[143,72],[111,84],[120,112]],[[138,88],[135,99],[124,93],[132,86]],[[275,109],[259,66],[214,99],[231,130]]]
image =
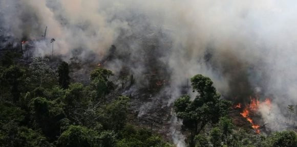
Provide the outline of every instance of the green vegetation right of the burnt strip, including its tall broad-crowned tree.
[[195,99],[191,101],[184,95],[174,104],[177,117],[183,120],[182,127],[188,133],[188,146],[297,146],[297,133],[293,131],[263,136],[236,128],[227,116],[231,103],[220,99],[213,82],[202,75],[194,76],[191,82],[193,91],[198,93]]

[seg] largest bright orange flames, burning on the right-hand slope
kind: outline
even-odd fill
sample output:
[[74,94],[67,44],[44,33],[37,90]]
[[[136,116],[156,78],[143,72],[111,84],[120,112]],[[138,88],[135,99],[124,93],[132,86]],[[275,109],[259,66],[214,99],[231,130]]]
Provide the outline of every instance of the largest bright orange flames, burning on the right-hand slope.
[[[240,113],[240,115],[251,124],[251,127],[256,131],[257,134],[259,134],[260,131],[260,126],[258,124],[255,124],[253,119],[250,117],[250,112],[254,113],[259,110],[259,106],[267,106],[271,107],[271,100],[270,99],[265,99],[264,102],[260,102],[258,98],[252,98],[250,97],[250,104],[248,104],[244,110]],[[235,106],[235,108],[241,108],[241,104],[239,103],[238,105]]]

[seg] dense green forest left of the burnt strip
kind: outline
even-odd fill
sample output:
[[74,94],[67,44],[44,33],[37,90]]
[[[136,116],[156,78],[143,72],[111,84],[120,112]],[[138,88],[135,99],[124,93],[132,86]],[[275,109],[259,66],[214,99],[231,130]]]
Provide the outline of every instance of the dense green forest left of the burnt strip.
[[173,146],[128,123],[130,97],[107,99],[112,71],[97,67],[83,85],[70,82],[66,62],[54,70],[49,59],[18,57],[0,63],[0,146]]

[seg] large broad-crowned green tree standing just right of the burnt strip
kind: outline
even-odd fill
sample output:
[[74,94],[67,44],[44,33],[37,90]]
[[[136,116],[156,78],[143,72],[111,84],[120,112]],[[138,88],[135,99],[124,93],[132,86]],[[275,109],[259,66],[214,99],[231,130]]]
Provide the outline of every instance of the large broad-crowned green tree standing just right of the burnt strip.
[[175,101],[177,117],[183,120],[183,127],[190,131],[189,146],[194,146],[194,137],[207,125],[216,124],[226,115],[231,106],[229,101],[220,99],[213,82],[202,75],[191,79],[193,92],[198,92],[194,101],[184,95]]

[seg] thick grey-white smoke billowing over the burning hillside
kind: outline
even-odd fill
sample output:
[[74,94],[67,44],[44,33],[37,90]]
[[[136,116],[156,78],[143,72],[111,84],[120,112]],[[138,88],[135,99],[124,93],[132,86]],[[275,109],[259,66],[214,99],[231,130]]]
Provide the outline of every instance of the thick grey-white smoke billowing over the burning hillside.
[[[96,54],[100,60],[115,44],[119,59],[107,66],[115,72],[129,67],[140,87],[150,83],[143,75],[157,72],[169,81],[164,90],[171,96],[164,105],[180,96],[187,78],[203,74],[226,99],[247,103],[254,94],[272,99],[272,111],[261,109],[272,122],[286,119],[286,106],[297,103],[296,3],[1,0],[0,33],[34,40],[35,56],[51,54],[55,38],[54,54],[66,60],[76,50],[82,59]],[[46,39],[40,39],[46,26]],[[277,126],[273,130],[283,128]]]

